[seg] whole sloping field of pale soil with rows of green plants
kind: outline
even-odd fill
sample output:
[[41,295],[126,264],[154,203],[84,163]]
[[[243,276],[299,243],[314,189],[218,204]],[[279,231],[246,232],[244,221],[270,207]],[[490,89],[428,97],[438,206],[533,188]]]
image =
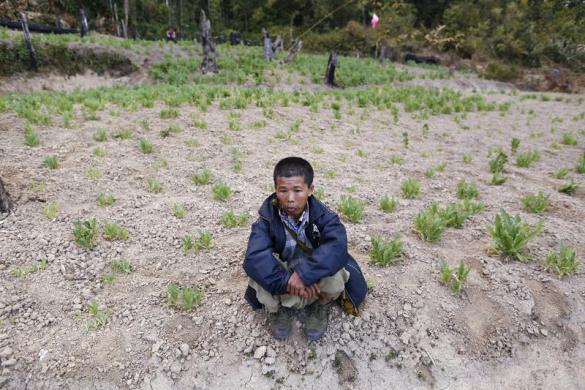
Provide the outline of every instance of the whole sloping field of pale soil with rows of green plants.
[[[585,386],[585,96],[355,58],[331,89],[325,56],[259,47],[202,76],[192,45],[124,45],[151,82],[0,96],[0,388]],[[289,155],[370,284],[315,344],[243,300]]]

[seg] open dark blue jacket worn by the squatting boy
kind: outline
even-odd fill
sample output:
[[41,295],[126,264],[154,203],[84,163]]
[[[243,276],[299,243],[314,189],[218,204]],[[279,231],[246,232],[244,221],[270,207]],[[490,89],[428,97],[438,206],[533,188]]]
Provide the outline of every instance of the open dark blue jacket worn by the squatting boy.
[[[281,295],[286,294],[291,273],[284,270],[273,255],[281,255],[286,243],[275,200],[276,194],[270,195],[258,210],[260,217],[252,225],[244,270],[272,295]],[[314,251],[308,261],[301,263],[295,271],[303,283],[310,286],[345,267],[350,273],[345,284],[346,296],[358,308],[366,297],[367,284],[357,262],[347,252],[345,227],[337,214],[314,196],[310,196],[308,202],[309,223],[305,233]],[[252,307],[262,307],[253,288],[248,287],[245,298]]]

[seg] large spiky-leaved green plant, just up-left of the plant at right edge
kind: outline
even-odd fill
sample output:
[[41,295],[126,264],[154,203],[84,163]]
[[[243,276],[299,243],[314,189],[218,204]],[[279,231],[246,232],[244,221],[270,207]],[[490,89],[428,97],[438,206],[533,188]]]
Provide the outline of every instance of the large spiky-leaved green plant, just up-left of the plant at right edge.
[[529,260],[529,257],[524,254],[525,247],[541,232],[542,222],[536,226],[530,226],[522,222],[519,215],[511,217],[504,209],[496,215],[495,224],[489,228],[496,251],[520,261]]

